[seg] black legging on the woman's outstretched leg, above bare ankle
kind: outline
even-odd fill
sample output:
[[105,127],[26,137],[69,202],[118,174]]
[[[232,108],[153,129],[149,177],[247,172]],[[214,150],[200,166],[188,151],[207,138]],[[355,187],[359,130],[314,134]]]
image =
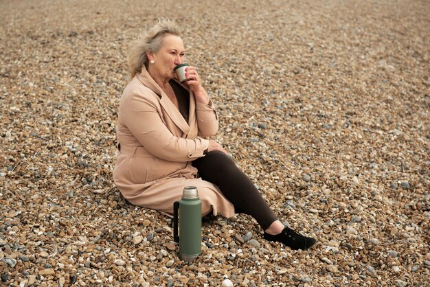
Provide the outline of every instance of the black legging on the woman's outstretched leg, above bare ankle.
[[277,220],[255,185],[224,152],[207,152],[205,157],[192,161],[201,179],[220,188],[238,213],[255,218],[263,230]]

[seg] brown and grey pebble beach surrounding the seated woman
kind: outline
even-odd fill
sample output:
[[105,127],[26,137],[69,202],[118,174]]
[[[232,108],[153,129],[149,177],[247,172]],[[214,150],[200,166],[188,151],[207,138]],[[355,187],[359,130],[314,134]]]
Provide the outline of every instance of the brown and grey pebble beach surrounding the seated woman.
[[[0,0],[0,286],[429,286],[429,1]],[[160,18],[215,137],[307,251],[172,218],[112,179],[128,45]]]

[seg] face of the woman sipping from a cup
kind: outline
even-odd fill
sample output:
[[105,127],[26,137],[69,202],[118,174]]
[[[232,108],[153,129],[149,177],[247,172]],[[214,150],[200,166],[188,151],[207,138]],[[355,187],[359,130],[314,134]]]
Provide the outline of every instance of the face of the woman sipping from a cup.
[[158,77],[163,79],[177,78],[174,72],[174,67],[183,63],[185,58],[185,49],[181,37],[166,34],[163,39],[163,47],[152,54],[154,64],[150,64],[154,68]]

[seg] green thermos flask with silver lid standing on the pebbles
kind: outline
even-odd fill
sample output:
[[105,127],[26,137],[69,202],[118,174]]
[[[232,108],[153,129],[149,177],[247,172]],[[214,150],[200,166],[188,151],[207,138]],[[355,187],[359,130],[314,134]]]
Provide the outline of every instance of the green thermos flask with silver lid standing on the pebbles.
[[[178,235],[179,209],[179,235]],[[173,203],[173,239],[179,242],[179,257],[193,261],[201,253],[201,200],[194,186],[183,189],[182,198]]]

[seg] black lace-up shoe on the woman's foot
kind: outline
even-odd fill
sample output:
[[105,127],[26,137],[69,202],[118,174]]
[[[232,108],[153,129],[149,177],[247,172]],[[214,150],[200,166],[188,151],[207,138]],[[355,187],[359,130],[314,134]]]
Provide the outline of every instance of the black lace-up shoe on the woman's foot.
[[273,242],[281,242],[293,250],[306,250],[317,242],[315,238],[302,236],[302,234],[299,234],[288,227],[285,227],[281,233],[276,234],[275,236],[264,232],[264,239]]

